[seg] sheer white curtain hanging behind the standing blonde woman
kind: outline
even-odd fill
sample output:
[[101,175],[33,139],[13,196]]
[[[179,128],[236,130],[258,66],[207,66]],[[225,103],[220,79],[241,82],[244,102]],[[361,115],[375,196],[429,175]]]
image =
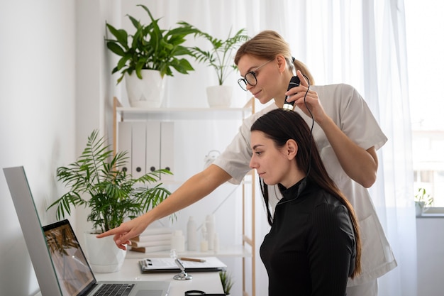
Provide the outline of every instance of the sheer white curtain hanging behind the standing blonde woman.
[[[136,4],[162,16],[165,26],[188,21],[219,38],[225,38],[231,28],[247,28],[249,35],[276,30],[290,43],[294,57],[308,65],[316,84],[343,82],[357,88],[389,138],[379,150],[379,174],[371,193],[398,267],[379,279],[379,295],[416,295],[404,1],[124,0],[122,13],[141,18]],[[204,89],[214,84],[215,77],[204,65],[195,68],[192,75],[170,84],[168,106],[207,106]],[[227,84],[237,85],[237,75],[229,77]],[[233,106],[242,106],[248,96],[240,90],[237,94],[240,99]],[[257,204],[257,212],[263,212],[262,204]],[[266,221],[258,221],[256,231],[260,246],[268,231]],[[256,294],[266,295],[267,274],[258,254],[256,258]]]

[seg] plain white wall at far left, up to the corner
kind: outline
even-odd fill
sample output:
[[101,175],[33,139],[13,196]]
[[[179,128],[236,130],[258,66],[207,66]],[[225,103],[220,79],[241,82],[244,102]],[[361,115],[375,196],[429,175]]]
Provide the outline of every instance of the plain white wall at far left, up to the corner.
[[[75,5],[0,1],[0,168],[23,165],[42,223],[60,189],[57,165],[75,144]],[[38,283],[0,172],[1,295],[33,295]]]

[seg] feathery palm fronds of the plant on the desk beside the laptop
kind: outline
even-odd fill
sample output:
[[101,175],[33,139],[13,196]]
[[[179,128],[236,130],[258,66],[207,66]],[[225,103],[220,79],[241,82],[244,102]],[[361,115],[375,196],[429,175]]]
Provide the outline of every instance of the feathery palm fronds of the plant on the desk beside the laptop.
[[[172,174],[169,170],[155,170],[139,178],[133,178],[123,168],[127,152],[116,153],[106,146],[99,131],[88,137],[87,147],[77,161],[67,167],[57,168],[57,180],[62,181],[70,191],[50,204],[57,206],[56,218],[71,214],[71,207],[84,206],[91,210],[87,220],[94,229],[108,231],[119,226],[123,219],[133,219],[155,207],[171,193],[161,187],[142,185],[157,182],[161,174]],[[90,198],[85,199],[86,194]]]

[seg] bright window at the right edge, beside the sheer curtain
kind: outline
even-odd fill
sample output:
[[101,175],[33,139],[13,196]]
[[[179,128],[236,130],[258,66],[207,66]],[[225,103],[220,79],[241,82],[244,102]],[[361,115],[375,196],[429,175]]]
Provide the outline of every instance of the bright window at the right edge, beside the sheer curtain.
[[444,207],[444,4],[404,0],[414,189]]

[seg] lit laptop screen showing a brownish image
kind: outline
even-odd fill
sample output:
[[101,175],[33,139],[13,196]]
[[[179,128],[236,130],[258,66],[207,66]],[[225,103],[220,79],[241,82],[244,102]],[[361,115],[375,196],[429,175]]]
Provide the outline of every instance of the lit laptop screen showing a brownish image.
[[96,283],[70,222],[43,226],[52,264],[63,295],[82,295]]

